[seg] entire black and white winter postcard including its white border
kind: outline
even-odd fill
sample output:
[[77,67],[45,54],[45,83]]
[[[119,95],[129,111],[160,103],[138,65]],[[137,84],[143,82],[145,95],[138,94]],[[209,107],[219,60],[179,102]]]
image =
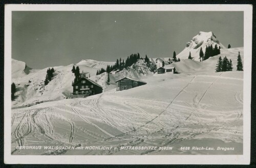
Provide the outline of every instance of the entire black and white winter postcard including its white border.
[[63,6],[6,11],[6,160],[249,163],[251,6]]

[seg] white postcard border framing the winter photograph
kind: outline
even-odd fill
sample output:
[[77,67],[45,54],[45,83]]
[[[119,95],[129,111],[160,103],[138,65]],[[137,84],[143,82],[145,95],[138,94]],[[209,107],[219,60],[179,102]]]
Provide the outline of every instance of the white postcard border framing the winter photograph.
[[[244,11],[243,155],[11,155],[11,21],[12,11]],[[252,58],[252,5],[6,5],[4,77],[4,162],[7,164],[249,164]]]

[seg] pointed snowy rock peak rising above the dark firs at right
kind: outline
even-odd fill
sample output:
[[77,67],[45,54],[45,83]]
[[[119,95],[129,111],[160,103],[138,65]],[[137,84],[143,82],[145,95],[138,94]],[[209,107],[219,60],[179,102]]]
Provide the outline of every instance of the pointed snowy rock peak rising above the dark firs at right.
[[189,52],[191,52],[191,57],[193,60],[200,61],[199,59],[199,52],[200,48],[202,47],[203,52],[205,53],[205,49],[207,45],[212,44],[212,46],[215,46],[215,44],[221,46],[221,49],[226,49],[226,47],[217,40],[217,37],[212,32],[199,32],[198,35],[192,38],[191,41],[186,43],[185,49],[180,52],[176,57],[177,59],[187,59],[189,56]]

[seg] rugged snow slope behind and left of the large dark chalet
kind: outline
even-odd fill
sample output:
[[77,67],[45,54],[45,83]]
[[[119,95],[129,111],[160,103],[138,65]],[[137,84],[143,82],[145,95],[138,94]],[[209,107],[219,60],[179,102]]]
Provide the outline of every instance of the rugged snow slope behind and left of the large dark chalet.
[[[97,70],[105,64],[112,62],[95,62],[94,60],[86,61],[86,64],[79,64],[80,72],[87,72],[95,76]],[[70,92],[73,91],[72,81],[74,74],[71,72],[73,65],[55,66],[54,77],[52,81],[44,86],[46,78],[46,71],[49,67],[44,69],[31,69],[26,66],[25,62],[12,59],[12,82],[17,87],[15,93],[16,99],[12,101],[13,106],[34,105],[46,101],[61,100],[70,97]],[[92,66],[92,67],[91,67]],[[26,68],[25,68],[26,67]],[[96,68],[98,67],[98,68]],[[104,67],[105,68],[105,67]],[[27,72],[27,73],[26,73]]]

